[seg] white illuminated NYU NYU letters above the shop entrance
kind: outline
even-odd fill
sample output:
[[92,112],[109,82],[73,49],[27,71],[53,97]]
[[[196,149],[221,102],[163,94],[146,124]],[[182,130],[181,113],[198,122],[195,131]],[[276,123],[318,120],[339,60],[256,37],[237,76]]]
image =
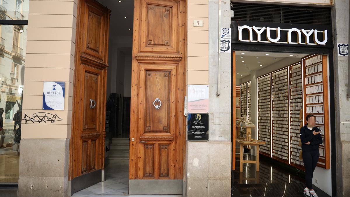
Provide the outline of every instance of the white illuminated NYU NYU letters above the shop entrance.
[[[253,36],[253,34],[255,34]],[[265,37],[265,38],[264,38]],[[328,41],[327,30],[299,29],[299,28],[270,28],[255,26],[238,26],[238,41],[285,43],[298,45],[326,45]]]

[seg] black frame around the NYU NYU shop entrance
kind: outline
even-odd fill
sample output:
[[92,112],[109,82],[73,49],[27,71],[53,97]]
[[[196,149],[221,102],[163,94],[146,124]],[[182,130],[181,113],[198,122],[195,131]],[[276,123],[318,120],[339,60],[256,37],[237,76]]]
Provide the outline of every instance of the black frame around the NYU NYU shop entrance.
[[[329,118],[330,118],[330,148],[331,148],[331,179],[332,179],[332,196],[336,196],[336,141],[335,141],[335,98],[334,96],[334,57],[333,57],[333,43],[332,43],[332,27],[331,26],[320,26],[320,25],[307,25],[305,29],[317,29],[328,31],[328,41],[325,46],[317,46],[317,45],[296,45],[296,44],[281,44],[281,43],[258,43],[258,42],[239,42],[238,41],[238,26],[248,25],[250,27],[276,27],[279,26],[281,28],[293,28],[295,27],[293,24],[286,23],[262,23],[262,22],[247,22],[247,21],[231,21],[231,50],[232,51],[251,51],[251,52],[275,52],[275,53],[305,53],[305,54],[321,54],[328,55],[328,69],[329,69]],[[297,25],[296,25],[297,26]],[[301,28],[305,27],[305,25],[301,25]],[[314,28],[313,28],[314,27]],[[300,29],[301,29],[300,28]],[[323,29],[322,29],[323,28]],[[253,33],[254,35],[255,33]],[[232,53],[231,53],[232,55]],[[232,57],[231,57],[231,67],[233,65]],[[231,91],[233,91],[232,87],[232,76],[231,76]],[[233,125],[233,124],[232,124]],[[231,125],[231,126],[232,126]],[[232,136],[233,137],[233,136]],[[231,141],[232,138],[231,137]],[[233,172],[232,172],[233,177]],[[232,178],[233,179],[233,178]]]

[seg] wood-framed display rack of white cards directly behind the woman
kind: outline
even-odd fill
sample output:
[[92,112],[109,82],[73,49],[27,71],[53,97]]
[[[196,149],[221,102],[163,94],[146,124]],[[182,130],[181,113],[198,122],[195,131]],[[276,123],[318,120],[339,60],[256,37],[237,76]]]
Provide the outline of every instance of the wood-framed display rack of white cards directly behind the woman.
[[303,62],[304,123],[306,116],[316,116],[316,127],[321,131],[323,143],[320,144],[320,157],[317,166],[330,168],[329,151],[329,109],[327,55],[311,55]]

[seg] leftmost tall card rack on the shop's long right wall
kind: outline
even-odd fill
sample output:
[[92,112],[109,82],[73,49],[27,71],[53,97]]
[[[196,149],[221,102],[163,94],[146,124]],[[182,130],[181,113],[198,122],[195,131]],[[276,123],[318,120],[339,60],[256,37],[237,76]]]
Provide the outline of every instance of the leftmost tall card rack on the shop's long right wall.
[[271,155],[271,79],[270,75],[257,78],[258,87],[258,139],[266,144],[260,145],[262,154]]

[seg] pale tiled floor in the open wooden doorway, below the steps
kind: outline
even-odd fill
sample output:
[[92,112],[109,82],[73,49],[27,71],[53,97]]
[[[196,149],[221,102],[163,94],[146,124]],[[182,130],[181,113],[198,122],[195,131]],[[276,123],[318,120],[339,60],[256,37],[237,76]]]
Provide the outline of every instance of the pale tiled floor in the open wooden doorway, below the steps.
[[129,195],[129,164],[109,164],[106,167],[106,181],[74,193],[73,197],[92,196],[137,196],[137,197],[182,197],[182,195]]

